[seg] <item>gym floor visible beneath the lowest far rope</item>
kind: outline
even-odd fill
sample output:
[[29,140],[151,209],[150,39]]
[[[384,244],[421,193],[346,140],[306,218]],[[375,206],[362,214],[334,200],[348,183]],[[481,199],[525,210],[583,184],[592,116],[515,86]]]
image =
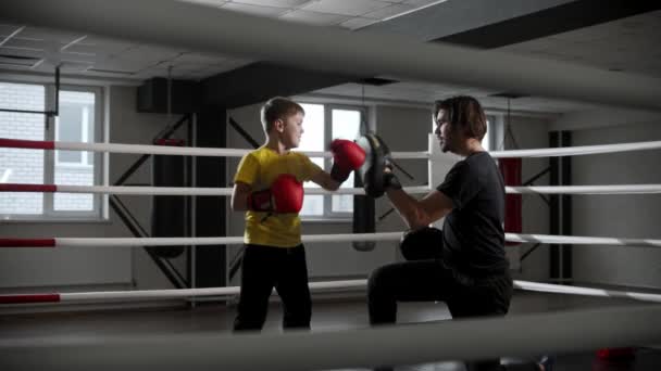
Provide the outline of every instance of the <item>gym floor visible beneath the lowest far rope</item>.
[[[578,308],[603,308],[625,306],[640,302],[619,298],[596,298],[575,295],[559,295],[516,291],[510,315],[558,311]],[[71,309],[71,308],[70,308]],[[205,303],[188,307],[142,307],[134,309],[45,311],[32,314],[0,315],[0,338],[3,341],[41,341],[99,338],[102,336],[134,336],[149,334],[203,334],[229,332],[235,307],[217,303]],[[273,303],[264,332],[280,331],[280,309]],[[400,323],[438,321],[450,315],[442,303],[404,303],[400,305]],[[315,297],[313,306],[313,331],[337,331],[360,329],[367,325],[364,298]],[[508,359],[506,358],[506,361]],[[359,370],[359,369],[352,369]],[[463,363],[446,361],[428,364],[399,366],[398,371],[464,370]],[[661,348],[636,348],[629,359],[603,360],[596,351],[557,355],[558,371],[624,371],[661,370]]]

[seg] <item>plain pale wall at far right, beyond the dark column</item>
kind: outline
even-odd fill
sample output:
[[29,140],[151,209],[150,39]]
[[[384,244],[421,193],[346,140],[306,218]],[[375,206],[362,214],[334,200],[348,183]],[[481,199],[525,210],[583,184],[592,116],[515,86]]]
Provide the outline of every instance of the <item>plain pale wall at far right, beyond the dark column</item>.
[[[661,140],[661,121],[632,124],[620,117],[619,126],[573,131],[573,145]],[[639,117],[633,115],[631,117]],[[563,121],[594,124],[599,113],[568,117]],[[635,121],[634,121],[635,123]],[[562,124],[562,123],[561,123]],[[661,152],[643,151],[575,156],[575,184],[659,184]],[[573,197],[573,234],[612,238],[661,239],[661,197],[647,195],[582,195]],[[651,247],[575,246],[576,281],[661,287],[661,250]]]

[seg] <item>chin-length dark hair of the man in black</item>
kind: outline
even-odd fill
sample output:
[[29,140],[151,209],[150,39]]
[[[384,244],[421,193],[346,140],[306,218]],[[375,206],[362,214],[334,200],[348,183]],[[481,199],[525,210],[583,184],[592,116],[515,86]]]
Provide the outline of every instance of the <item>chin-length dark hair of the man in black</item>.
[[457,95],[434,102],[434,120],[438,111],[445,111],[448,124],[479,141],[487,133],[487,116],[479,102],[469,95]]

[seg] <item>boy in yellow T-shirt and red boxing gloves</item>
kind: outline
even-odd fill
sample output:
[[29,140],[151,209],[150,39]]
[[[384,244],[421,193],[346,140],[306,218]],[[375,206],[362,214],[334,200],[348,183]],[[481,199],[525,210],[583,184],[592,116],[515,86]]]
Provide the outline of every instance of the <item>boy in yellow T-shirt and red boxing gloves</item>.
[[359,168],[364,151],[352,141],[330,143],[333,168],[323,171],[302,153],[291,152],[303,133],[303,108],[276,97],[261,110],[266,143],[241,159],[234,178],[232,209],[246,210],[241,293],[234,330],[261,330],[273,287],[283,302],[283,328],[310,329],[312,305],[300,212],[303,181],[335,191]]

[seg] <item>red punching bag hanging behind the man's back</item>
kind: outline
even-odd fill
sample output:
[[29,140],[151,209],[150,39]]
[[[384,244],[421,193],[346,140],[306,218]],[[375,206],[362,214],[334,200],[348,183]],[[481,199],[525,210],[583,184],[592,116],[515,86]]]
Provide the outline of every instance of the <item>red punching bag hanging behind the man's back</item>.
[[[499,158],[500,172],[506,186],[521,186],[521,158]],[[504,232],[521,233],[522,213],[521,194],[506,194],[504,196]],[[516,246],[519,242],[506,242],[507,246]]]

